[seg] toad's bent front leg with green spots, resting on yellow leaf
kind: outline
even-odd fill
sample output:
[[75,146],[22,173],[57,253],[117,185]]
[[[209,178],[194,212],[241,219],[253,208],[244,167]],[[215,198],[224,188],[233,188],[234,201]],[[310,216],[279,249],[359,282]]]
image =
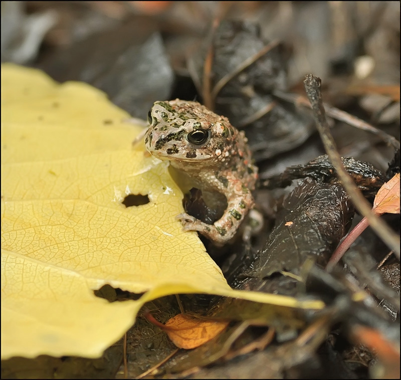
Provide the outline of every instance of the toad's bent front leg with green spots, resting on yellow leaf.
[[253,205],[253,197],[248,193],[230,200],[223,216],[213,225],[206,224],[186,213],[178,215],[177,219],[181,221],[184,231],[198,231],[217,245],[222,246],[235,236],[241,222]]

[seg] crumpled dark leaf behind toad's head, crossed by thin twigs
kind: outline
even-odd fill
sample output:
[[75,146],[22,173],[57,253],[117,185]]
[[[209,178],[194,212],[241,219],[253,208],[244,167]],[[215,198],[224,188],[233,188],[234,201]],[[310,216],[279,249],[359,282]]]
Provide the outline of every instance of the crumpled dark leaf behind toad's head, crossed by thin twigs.
[[[210,45],[200,49],[189,64],[206,103],[202,78],[208,48]],[[287,87],[287,57],[278,42],[269,44],[262,39],[259,27],[252,23],[223,21],[213,35],[212,52],[213,64],[207,75],[212,82],[209,107],[246,129],[257,161],[290,150],[308,138],[314,130],[311,118],[271,95],[274,89]]]

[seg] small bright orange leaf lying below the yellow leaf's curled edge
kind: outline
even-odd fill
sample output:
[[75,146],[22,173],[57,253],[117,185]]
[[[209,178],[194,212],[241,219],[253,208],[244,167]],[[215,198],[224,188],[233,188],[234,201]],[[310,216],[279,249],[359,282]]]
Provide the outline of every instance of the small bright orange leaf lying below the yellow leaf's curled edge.
[[198,347],[219,335],[228,325],[228,321],[212,321],[178,314],[165,323],[164,331],[179,348]]

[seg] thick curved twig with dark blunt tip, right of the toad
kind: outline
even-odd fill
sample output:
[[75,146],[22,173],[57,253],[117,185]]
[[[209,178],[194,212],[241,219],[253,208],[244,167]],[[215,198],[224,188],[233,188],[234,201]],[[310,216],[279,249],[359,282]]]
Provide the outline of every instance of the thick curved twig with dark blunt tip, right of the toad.
[[360,190],[346,171],[341,156],[338,153],[334,138],[330,133],[327,123],[326,114],[321,97],[321,80],[312,74],[305,75],[304,86],[306,94],[312,106],[316,126],[320,134],[320,138],[326,149],[331,162],[336,168],[337,174],[345,187],[346,192],[352,199],[357,210],[368,220],[372,229],[387,244],[387,246],[397,254],[399,258],[399,237],[382,221],[377,215],[371,211],[371,206],[364,199]]

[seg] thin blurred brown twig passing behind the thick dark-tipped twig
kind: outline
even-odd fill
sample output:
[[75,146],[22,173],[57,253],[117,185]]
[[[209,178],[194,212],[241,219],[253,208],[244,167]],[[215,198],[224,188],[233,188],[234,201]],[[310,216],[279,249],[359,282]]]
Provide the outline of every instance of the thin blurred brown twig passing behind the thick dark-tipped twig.
[[[296,105],[302,105],[306,106],[308,108],[311,108],[311,105],[305,97],[301,95],[296,95],[296,94],[287,94],[285,92],[282,92],[280,90],[275,90],[273,92],[273,95],[277,96],[280,99],[283,99],[287,102],[294,103]],[[336,107],[332,107],[326,103],[323,103],[324,105],[324,110],[326,111],[326,114],[329,115],[330,117],[343,121],[344,123],[347,123],[355,128],[362,129],[364,131],[371,132],[377,136],[379,136],[383,141],[385,141],[387,144],[392,145],[394,148],[399,149],[399,141],[385,133],[384,131],[375,128],[373,125],[367,123],[364,120],[361,120],[355,116],[350,115],[349,113],[345,111],[341,111],[340,109]]]

